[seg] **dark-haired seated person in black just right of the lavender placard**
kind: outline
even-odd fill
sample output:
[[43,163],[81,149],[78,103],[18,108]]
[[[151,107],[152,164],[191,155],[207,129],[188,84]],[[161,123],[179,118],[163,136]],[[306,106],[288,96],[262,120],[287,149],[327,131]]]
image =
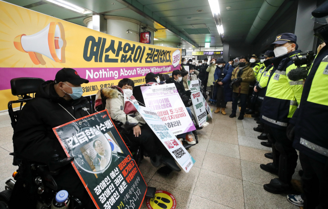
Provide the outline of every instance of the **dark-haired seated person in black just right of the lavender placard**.
[[[179,95],[182,99],[182,102],[185,104],[185,106],[189,106],[189,99],[190,99],[190,96],[191,96],[191,91],[188,90],[186,91],[185,90],[185,87],[183,86],[182,84],[182,76],[181,76],[182,72],[179,71],[179,70],[174,70],[172,72],[172,77],[170,77],[169,80],[167,80],[166,83],[174,83],[176,89],[178,90],[179,92]],[[188,111],[188,114],[191,118],[191,110],[189,107],[186,107],[187,111]],[[186,139],[187,143],[189,144],[196,144],[196,141],[194,141],[193,137],[192,137],[192,132],[187,132],[187,133],[184,133],[184,134],[179,134],[177,135],[176,137],[179,139],[179,141],[182,143],[182,141],[184,139]]]

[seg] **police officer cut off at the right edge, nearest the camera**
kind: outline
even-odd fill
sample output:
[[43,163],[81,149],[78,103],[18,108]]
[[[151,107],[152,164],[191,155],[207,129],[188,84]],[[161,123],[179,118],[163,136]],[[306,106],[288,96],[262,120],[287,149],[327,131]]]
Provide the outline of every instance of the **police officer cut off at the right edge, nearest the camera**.
[[[312,15],[321,19],[328,17],[328,2],[315,9]],[[304,172],[302,199],[305,209],[328,208],[328,27],[319,30],[316,35],[324,42],[318,47],[304,83],[300,105],[289,126],[291,129],[295,124],[295,137],[293,134],[289,136],[294,138],[293,147],[299,150]],[[289,196],[290,202],[300,202],[296,195]]]

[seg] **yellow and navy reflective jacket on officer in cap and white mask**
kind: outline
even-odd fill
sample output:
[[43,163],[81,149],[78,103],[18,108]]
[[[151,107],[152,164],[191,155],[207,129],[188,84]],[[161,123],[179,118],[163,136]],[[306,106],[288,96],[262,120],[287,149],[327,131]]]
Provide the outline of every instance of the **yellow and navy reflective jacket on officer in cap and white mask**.
[[289,57],[281,60],[279,66],[270,74],[267,92],[263,99],[261,122],[274,128],[284,129],[293,116],[301,100],[303,80],[292,81],[287,74],[296,66],[290,57],[299,54],[300,50],[291,52]]

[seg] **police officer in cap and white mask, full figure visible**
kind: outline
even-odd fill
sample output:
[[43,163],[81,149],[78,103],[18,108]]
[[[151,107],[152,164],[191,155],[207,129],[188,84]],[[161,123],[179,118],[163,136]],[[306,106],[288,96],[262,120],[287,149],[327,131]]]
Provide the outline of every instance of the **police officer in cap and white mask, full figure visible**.
[[[269,77],[267,92],[262,102],[261,122],[270,128],[274,148],[274,163],[261,164],[264,171],[278,174],[279,178],[272,179],[264,184],[264,190],[281,194],[291,189],[291,180],[297,165],[297,152],[292,142],[286,136],[286,128],[301,100],[302,83],[290,80],[286,75],[296,66],[292,56],[299,54],[296,45],[297,37],[292,33],[277,35],[274,45],[275,57],[271,62],[275,69]],[[280,154],[280,156],[279,156]],[[279,158],[278,158],[279,156]],[[275,161],[279,161],[278,163]]]

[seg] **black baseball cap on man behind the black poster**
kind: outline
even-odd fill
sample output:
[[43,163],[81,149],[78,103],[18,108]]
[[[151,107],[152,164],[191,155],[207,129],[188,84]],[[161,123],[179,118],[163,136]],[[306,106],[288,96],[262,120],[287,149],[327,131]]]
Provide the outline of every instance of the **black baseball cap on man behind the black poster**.
[[63,68],[59,70],[55,77],[55,83],[70,82],[74,85],[81,85],[82,83],[88,83],[89,80],[81,78],[76,70],[72,68]]

